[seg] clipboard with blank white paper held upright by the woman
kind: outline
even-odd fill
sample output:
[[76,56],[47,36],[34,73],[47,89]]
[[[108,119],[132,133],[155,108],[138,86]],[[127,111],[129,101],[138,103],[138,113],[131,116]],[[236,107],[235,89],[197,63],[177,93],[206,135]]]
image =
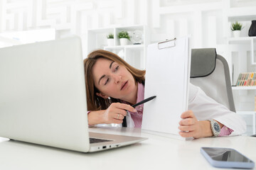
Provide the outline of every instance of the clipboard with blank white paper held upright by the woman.
[[147,47],[144,98],[144,132],[186,140],[178,132],[181,113],[188,109],[191,49],[188,36],[154,43]]

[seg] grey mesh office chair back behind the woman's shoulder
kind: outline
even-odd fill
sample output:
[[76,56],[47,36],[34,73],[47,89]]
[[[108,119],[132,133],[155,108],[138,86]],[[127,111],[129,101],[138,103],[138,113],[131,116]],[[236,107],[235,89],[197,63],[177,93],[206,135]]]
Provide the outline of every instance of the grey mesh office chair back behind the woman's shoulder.
[[215,48],[191,50],[191,84],[201,87],[207,96],[235,112],[228,62]]

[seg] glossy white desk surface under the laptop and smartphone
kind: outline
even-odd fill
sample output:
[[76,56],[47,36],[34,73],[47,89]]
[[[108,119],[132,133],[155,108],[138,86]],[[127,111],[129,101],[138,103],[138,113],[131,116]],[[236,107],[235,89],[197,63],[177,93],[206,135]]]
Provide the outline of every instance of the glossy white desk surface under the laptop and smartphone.
[[215,169],[201,147],[231,147],[256,162],[256,137],[207,137],[181,141],[140,129],[90,128],[91,132],[137,135],[149,140],[103,152],[80,153],[0,138],[0,169]]

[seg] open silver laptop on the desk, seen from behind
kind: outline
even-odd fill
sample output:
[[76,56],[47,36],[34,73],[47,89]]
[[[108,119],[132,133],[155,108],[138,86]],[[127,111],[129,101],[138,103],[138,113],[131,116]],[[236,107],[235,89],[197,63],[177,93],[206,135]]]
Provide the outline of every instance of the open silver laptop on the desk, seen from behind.
[[78,37],[0,49],[0,136],[78,152],[146,140],[89,132]]

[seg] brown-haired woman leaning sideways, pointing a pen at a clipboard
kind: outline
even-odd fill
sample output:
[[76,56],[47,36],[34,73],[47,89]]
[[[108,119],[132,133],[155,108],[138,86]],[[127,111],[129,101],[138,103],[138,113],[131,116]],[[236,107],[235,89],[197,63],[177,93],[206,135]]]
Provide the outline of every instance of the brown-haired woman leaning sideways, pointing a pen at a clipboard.
[[[122,123],[127,111],[135,128],[142,127],[145,71],[135,69],[112,52],[96,50],[84,60],[89,125]],[[189,84],[188,109],[181,114],[182,137],[241,135],[245,121],[203,91]],[[128,123],[131,126],[131,123]]]

